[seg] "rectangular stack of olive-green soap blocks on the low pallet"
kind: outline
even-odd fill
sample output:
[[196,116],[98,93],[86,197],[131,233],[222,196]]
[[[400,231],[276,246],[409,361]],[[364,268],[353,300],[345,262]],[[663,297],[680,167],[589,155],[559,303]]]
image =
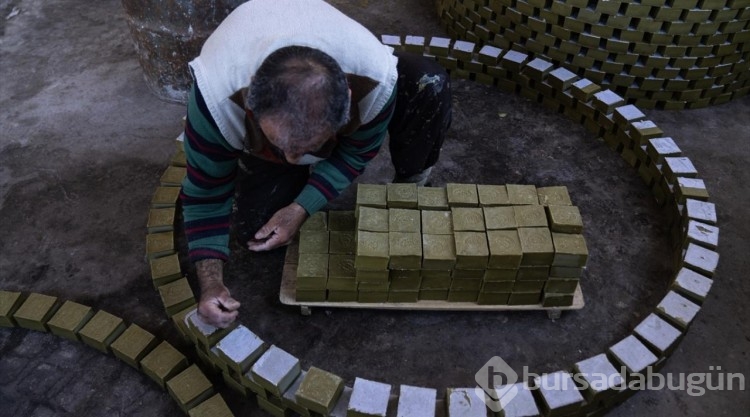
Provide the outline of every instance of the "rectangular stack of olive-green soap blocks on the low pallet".
[[359,184],[302,227],[297,301],[570,306],[582,230],[565,187]]

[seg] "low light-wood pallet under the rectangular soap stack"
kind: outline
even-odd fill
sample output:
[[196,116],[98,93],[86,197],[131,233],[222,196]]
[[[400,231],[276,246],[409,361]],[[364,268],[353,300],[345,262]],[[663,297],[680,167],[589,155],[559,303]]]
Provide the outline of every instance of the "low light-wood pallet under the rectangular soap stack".
[[279,300],[282,304],[299,306],[302,315],[312,314],[312,307],[369,308],[381,310],[450,310],[450,311],[528,311],[543,310],[551,320],[560,318],[564,310],[580,310],[584,306],[581,286],[576,287],[573,304],[565,307],[544,307],[541,304],[528,305],[480,305],[471,302],[420,300],[416,303],[358,303],[332,301],[297,301],[297,242],[289,245],[281,276]]

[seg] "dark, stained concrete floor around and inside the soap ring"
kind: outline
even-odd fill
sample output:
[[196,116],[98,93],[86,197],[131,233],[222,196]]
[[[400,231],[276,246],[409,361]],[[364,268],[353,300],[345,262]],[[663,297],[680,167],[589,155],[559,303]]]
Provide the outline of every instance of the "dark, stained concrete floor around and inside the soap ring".
[[[430,0],[335,5],[376,34],[444,35]],[[6,19],[14,8],[20,13]],[[150,286],[148,204],[174,149],[184,107],[147,90],[116,0],[0,0],[0,289],[41,292],[107,310],[185,352]],[[665,214],[626,164],[583,128],[522,98],[456,80],[454,124],[434,185],[566,185],[591,251],[586,307],[541,312],[413,313],[321,309],[278,301],[282,253],[235,248],[228,285],[240,321],[303,367],[393,385],[473,386],[492,356],[520,372],[569,369],[629,334],[672,273]],[[505,117],[500,117],[506,113]],[[662,373],[709,366],[750,378],[750,97],[708,109],[645,111],[673,137],[717,204],[714,288]],[[362,177],[387,182],[383,152]],[[345,193],[333,208],[349,208]],[[195,282],[193,282],[195,284]],[[221,383],[217,381],[217,385]],[[220,388],[237,415],[263,415]],[[641,392],[613,416],[734,416],[740,391]],[[0,416],[178,416],[147,377],[82,344],[0,330]]]

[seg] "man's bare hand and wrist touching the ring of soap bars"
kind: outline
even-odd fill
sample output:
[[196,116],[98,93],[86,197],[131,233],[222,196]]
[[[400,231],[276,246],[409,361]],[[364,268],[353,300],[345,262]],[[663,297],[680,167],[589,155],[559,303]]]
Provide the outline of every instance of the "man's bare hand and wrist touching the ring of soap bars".
[[211,325],[225,328],[237,318],[240,302],[229,295],[224,286],[224,263],[219,259],[204,259],[195,263],[201,287],[198,314]]

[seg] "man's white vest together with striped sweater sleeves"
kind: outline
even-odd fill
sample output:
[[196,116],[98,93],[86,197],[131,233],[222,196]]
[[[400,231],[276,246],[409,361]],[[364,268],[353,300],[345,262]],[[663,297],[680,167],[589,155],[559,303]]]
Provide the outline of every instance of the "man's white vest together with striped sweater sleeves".
[[192,261],[228,258],[237,159],[247,133],[237,96],[265,57],[289,45],[333,57],[352,90],[350,123],[339,131],[331,157],[316,164],[297,203],[309,214],[320,210],[364,170],[383,142],[398,79],[392,48],[322,0],[253,0],[238,6],[190,62],[195,84],[181,199]]

